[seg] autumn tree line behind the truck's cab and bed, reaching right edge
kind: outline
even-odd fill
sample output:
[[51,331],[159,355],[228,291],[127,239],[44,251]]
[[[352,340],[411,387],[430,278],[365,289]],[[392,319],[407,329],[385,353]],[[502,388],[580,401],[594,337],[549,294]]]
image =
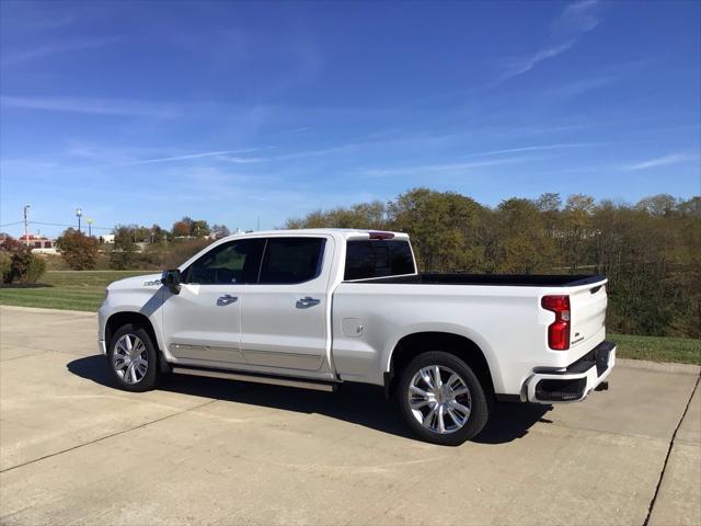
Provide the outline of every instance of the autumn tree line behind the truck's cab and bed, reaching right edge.
[[496,207],[455,192],[314,210],[287,228],[407,232],[424,272],[604,274],[612,332],[701,338],[701,197],[636,204],[582,194]]

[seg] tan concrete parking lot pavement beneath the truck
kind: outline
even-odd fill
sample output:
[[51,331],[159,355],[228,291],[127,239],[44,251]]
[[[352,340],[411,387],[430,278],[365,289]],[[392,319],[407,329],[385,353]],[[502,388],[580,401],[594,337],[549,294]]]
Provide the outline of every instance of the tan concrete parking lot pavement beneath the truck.
[[95,335],[91,313],[0,308],[1,524],[701,523],[696,366],[619,361],[609,391],[498,404],[448,448],[379,388],[119,391]]

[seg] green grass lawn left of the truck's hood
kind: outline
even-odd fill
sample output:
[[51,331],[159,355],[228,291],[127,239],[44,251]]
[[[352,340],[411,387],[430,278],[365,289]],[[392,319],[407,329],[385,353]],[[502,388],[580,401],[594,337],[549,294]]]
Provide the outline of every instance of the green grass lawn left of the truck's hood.
[[95,312],[112,282],[154,271],[48,271],[43,286],[0,287],[0,305]]

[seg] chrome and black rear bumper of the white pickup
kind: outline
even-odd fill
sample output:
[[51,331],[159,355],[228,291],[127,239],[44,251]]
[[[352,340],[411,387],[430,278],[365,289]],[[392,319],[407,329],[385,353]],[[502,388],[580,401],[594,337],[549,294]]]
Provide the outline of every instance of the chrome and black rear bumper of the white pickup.
[[521,400],[536,403],[578,402],[611,374],[616,345],[601,342],[565,369],[538,370],[524,384]]

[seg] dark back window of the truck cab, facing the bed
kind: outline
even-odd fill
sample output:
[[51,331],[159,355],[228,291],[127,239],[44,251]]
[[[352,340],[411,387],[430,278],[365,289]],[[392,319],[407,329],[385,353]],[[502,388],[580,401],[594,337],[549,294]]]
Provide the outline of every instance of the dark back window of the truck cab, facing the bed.
[[346,281],[414,272],[414,258],[409,241],[359,240],[348,241],[346,244]]

